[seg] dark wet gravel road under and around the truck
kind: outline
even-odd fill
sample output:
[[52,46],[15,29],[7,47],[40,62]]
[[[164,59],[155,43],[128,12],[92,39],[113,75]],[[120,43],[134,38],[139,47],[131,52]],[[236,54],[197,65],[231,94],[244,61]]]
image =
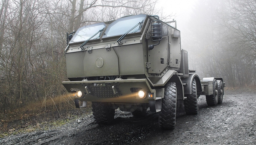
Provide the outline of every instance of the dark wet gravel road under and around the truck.
[[199,114],[178,110],[174,130],[158,127],[158,114],[148,112],[135,118],[130,112],[116,110],[112,124],[97,125],[92,114],[53,127],[0,138],[0,144],[37,145],[183,145],[256,144],[255,92],[226,91],[221,105],[208,106],[205,96],[198,99]]

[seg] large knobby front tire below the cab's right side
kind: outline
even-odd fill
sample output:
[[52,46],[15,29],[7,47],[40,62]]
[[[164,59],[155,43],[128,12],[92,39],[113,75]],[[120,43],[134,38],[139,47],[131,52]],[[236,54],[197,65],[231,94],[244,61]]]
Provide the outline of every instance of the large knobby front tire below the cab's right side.
[[167,82],[162,98],[162,108],[159,114],[159,127],[164,130],[174,129],[176,124],[176,85]]

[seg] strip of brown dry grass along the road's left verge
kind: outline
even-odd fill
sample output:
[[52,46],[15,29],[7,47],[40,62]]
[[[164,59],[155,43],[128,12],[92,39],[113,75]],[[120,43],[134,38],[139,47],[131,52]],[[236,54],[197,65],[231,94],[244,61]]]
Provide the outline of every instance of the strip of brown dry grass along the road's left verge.
[[48,96],[41,101],[25,104],[20,109],[0,114],[0,137],[10,135],[18,130],[25,129],[30,132],[41,122],[56,124],[56,122],[69,120],[90,110],[91,102],[88,102],[86,108],[76,109],[74,99],[69,93],[54,97]]

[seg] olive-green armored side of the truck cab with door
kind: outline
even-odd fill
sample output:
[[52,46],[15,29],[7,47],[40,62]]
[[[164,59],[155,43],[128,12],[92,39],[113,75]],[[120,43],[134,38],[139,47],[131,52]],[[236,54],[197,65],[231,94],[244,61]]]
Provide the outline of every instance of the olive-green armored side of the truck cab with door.
[[[180,35],[172,35],[173,29],[163,23],[162,25],[162,35],[163,38],[159,45],[156,45],[154,49],[148,52],[148,73],[160,74],[167,66],[178,70],[181,63],[181,53],[180,53]],[[175,32],[179,32],[175,29]],[[148,40],[149,45],[157,43],[156,41]]]

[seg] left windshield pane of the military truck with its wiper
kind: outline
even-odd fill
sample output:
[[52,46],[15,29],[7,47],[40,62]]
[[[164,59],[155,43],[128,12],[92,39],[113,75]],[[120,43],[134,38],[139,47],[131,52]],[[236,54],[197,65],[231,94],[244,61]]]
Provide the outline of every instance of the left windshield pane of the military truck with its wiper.
[[[89,38],[91,38],[93,35],[95,35],[99,30],[102,30],[105,27],[106,27],[106,24],[103,22],[88,25],[88,26],[83,26],[76,31],[76,33],[74,34],[73,38],[69,41],[69,43],[86,41]],[[99,39],[99,35],[95,35],[94,37],[91,38],[91,40]]]

